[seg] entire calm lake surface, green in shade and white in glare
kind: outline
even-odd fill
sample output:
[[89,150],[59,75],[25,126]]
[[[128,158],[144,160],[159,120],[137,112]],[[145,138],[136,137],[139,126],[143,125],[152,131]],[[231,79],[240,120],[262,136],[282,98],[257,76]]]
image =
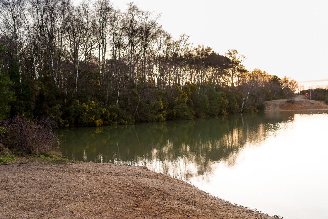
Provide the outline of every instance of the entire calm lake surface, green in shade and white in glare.
[[328,111],[56,130],[68,159],[146,166],[284,218],[328,218]]

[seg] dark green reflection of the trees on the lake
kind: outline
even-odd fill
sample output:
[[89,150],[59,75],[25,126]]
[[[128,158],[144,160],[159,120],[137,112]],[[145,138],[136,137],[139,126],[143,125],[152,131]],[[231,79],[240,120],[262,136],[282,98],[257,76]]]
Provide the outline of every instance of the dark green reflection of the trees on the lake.
[[57,132],[64,136],[60,150],[69,159],[143,165],[188,181],[194,175],[211,174],[218,161],[234,166],[245,143],[256,145],[288,120],[293,114],[270,112]]

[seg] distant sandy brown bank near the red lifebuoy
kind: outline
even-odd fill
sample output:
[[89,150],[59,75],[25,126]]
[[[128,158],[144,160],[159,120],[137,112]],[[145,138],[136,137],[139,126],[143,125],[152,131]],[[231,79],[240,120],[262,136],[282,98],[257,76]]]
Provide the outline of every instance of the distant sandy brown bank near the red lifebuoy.
[[265,101],[264,104],[266,111],[328,109],[324,101],[306,99],[303,95],[296,96],[293,101],[294,103],[287,103],[287,99],[278,99]]

